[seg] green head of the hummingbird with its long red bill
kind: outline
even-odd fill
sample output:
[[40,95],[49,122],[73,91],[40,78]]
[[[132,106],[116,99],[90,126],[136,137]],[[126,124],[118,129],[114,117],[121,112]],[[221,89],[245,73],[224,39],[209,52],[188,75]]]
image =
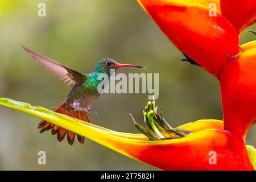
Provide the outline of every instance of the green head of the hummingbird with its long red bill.
[[124,67],[135,67],[135,68],[143,68],[139,65],[134,65],[134,64],[120,64],[117,63],[117,61],[110,59],[110,58],[105,58],[100,60],[100,62],[98,62],[95,72],[98,73],[106,73],[108,75],[110,75],[110,69],[119,69],[119,68],[124,68]]

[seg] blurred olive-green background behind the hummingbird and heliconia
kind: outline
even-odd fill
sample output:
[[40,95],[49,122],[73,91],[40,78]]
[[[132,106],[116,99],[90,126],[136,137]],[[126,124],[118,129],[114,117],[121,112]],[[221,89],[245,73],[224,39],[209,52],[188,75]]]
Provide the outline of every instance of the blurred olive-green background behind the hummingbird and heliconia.
[[[46,3],[46,17],[38,3]],[[164,36],[135,0],[0,0],[0,97],[55,109],[70,88],[32,61],[19,44],[83,73],[112,57],[141,69],[124,73],[159,73],[157,104],[173,126],[197,119],[222,119],[218,81],[203,69],[181,62],[184,56]],[[251,27],[254,30],[256,26]],[[254,40],[243,32],[241,44]],[[104,94],[94,103],[90,121],[109,129],[138,133],[128,113],[143,121],[147,94]],[[0,106],[0,169],[155,169],[86,140],[69,146],[50,132],[39,134],[40,119]],[[256,146],[256,127],[247,144]],[[47,164],[38,164],[38,151]],[[177,156],[174,156],[177,157]]]

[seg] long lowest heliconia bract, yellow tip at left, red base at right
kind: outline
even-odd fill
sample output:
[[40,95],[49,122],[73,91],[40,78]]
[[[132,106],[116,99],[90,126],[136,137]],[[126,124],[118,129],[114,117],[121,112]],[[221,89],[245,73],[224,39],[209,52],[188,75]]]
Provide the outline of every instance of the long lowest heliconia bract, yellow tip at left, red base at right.
[[254,170],[255,148],[246,148],[243,139],[223,130],[223,122],[219,120],[187,123],[177,129],[192,131],[191,134],[178,139],[152,141],[142,134],[119,133],[24,102],[0,98],[0,104],[49,121],[160,169]]

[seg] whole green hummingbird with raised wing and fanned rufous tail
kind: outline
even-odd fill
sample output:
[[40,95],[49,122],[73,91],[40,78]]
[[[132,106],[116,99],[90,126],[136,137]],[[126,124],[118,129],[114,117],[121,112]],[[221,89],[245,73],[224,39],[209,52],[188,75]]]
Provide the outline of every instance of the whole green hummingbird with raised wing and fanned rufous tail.
[[[98,84],[100,84],[102,80],[97,79],[99,74],[105,73],[110,79],[110,69],[114,69],[116,71],[123,67],[143,68],[139,65],[119,64],[113,59],[105,58],[98,62],[94,72],[84,74],[46,56],[40,55],[37,52],[31,51],[24,46],[22,46],[22,48],[32,59],[36,61],[36,63],[46,68],[48,72],[60,78],[60,80],[64,81],[65,84],[72,87],[63,103],[54,111],[56,113],[80,119],[84,122],[89,122],[87,116],[89,112],[97,114],[96,111],[90,110],[90,106],[100,96],[100,93],[98,92]],[[84,144],[84,137],[81,135],[73,133],[72,131],[66,130],[60,126],[53,125],[52,123],[44,120],[39,123],[38,129],[40,129],[39,133],[51,130],[52,135],[57,134],[57,140],[59,140],[59,142],[61,142],[65,138],[65,135],[67,135],[67,140],[70,145],[74,143],[75,136],[77,136],[77,140],[81,144]]]

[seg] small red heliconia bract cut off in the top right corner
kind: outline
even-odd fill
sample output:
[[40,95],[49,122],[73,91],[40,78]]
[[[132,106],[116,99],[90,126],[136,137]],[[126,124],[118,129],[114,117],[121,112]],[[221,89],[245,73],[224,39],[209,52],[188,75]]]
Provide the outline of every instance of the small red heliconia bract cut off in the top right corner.
[[256,20],[255,0],[221,0],[221,13],[238,32],[253,24]]

